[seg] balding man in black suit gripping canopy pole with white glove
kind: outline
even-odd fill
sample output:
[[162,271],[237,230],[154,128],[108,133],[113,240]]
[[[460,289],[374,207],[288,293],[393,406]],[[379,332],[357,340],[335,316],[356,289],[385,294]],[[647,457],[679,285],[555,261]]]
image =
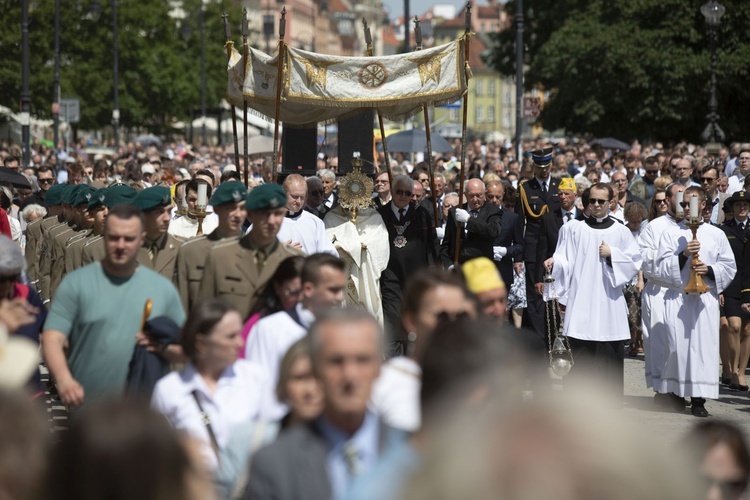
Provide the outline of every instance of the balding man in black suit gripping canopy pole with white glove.
[[[500,235],[500,210],[487,203],[482,181],[470,179],[466,183],[466,199],[468,203],[463,208],[448,212],[445,237],[440,245],[440,259],[446,268],[477,257],[492,260],[493,243]],[[457,241],[461,242],[461,248],[458,262],[454,262]]]

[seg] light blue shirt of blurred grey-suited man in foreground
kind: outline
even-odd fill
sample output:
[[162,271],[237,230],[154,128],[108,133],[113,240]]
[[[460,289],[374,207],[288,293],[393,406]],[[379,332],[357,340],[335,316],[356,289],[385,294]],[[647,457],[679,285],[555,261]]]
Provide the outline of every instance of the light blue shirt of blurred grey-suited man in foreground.
[[349,485],[354,479],[349,473],[346,460],[344,459],[344,447],[348,442],[357,450],[359,474],[371,469],[378,460],[378,444],[380,442],[380,426],[378,418],[367,412],[365,420],[354,435],[349,436],[346,432],[334,427],[325,417],[318,419],[321,433],[328,445],[326,465],[328,479],[331,482],[331,491],[334,500],[345,498]]

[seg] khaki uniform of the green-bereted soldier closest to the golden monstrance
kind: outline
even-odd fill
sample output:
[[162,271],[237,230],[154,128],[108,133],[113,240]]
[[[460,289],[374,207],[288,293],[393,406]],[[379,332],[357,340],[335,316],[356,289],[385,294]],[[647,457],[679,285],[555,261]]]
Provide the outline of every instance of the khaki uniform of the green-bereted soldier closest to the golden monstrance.
[[253,248],[250,235],[213,247],[206,257],[199,300],[222,297],[247,319],[255,293],[273,276],[279,264],[288,257],[303,255],[281,242],[259,257],[262,252]]

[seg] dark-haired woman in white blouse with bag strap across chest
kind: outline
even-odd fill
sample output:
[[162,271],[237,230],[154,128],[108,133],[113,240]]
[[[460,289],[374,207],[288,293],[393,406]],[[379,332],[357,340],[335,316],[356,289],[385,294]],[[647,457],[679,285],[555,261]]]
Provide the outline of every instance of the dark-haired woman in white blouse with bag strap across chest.
[[196,305],[181,337],[189,362],[162,378],[151,400],[176,429],[200,442],[204,462],[221,478],[217,486],[230,491],[244,464],[220,457],[237,446],[247,456],[250,440],[236,436],[245,435],[265,415],[268,405],[262,395],[270,383],[257,365],[238,359],[241,331],[240,313],[223,300]]

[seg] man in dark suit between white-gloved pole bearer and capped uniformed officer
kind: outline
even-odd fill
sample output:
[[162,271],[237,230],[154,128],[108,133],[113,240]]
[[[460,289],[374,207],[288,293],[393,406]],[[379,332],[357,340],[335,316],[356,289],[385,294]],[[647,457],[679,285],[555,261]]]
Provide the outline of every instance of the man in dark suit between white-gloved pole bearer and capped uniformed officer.
[[500,234],[492,242],[492,257],[505,286],[510,289],[513,284],[514,264],[518,264],[519,273],[523,266],[523,231],[518,223],[518,215],[503,209],[504,195],[505,188],[501,182],[487,183],[487,203],[495,205],[500,210]]

